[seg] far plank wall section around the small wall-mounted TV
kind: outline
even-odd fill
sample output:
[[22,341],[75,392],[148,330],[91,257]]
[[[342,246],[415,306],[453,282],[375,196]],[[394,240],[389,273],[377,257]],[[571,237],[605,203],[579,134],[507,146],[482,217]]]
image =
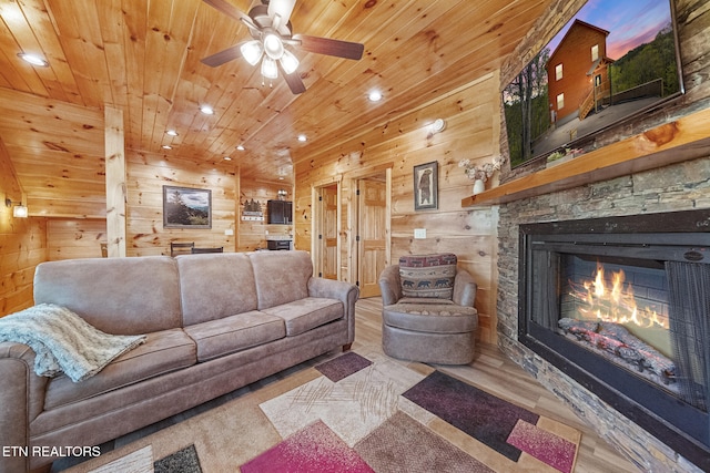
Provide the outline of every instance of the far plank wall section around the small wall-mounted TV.
[[[266,182],[242,182],[240,192],[240,232],[239,232],[239,248],[237,251],[254,251],[257,249],[266,248],[266,236],[277,235],[287,236],[293,234],[293,225],[268,225],[268,212],[266,209],[266,202],[275,200],[278,197],[278,189],[285,189],[288,192],[291,199],[293,196],[293,189],[291,186],[284,186],[280,183],[266,183]],[[264,219],[258,220],[241,220],[242,210],[244,204],[251,200],[258,202],[264,213]]]

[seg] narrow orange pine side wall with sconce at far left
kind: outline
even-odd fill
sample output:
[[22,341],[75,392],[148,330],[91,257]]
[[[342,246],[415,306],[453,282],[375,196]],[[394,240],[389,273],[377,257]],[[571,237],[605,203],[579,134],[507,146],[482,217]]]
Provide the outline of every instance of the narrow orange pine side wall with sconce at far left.
[[14,218],[13,204],[22,199],[22,189],[0,141],[0,317],[32,305],[34,268],[47,260],[47,218]]

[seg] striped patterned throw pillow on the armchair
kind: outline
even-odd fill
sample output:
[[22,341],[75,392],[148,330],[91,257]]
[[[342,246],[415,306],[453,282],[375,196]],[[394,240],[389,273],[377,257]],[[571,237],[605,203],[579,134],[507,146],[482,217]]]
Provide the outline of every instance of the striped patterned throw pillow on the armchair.
[[399,280],[405,297],[450,299],[455,276],[456,255],[452,253],[399,258]]

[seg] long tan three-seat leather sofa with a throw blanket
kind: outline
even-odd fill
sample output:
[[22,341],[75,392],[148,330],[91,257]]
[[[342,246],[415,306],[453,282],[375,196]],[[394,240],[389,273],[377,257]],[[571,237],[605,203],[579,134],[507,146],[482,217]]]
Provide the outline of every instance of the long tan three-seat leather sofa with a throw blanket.
[[45,469],[55,457],[41,448],[97,445],[348,349],[358,289],[312,273],[305,251],[39,265],[34,304],[67,307],[108,333],[148,338],[78,383],[38,377],[29,347],[0,343],[0,445],[18,448],[0,456],[0,472]]

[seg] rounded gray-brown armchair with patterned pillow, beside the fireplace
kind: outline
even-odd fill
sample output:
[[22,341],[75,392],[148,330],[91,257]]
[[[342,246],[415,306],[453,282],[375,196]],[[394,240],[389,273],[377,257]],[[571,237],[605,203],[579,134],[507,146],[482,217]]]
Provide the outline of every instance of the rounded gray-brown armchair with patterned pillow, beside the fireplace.
[[453,254],[404,256],[379,276],[383,349],[413,361],[467,364],[474,359],[476,282]]

